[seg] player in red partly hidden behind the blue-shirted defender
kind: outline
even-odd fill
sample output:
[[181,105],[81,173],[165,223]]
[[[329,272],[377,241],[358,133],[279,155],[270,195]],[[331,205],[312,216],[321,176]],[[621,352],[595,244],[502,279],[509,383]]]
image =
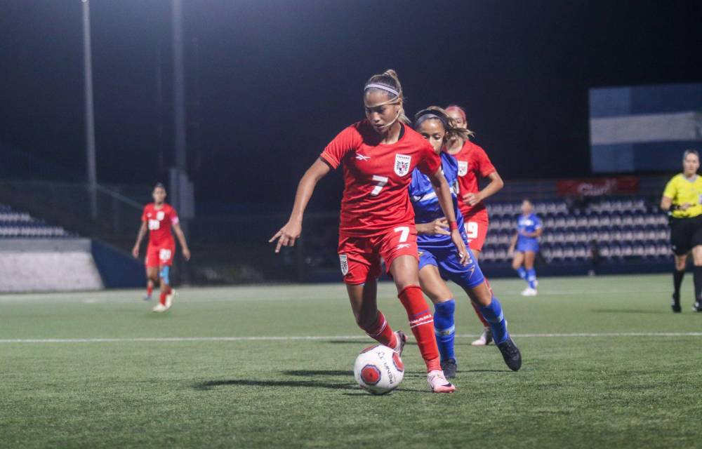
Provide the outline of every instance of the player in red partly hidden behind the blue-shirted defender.
[[[446,113],[456,121],[458,126],[468,129],[468,121],[465,119],[465,111],[462,107],[451,105],[446,107]],[[458,161],[458,188],[461,197],[458,206],[461,207],[463,220],[465,220],[468,244],[473,255],[479,259],[489,226],[487,209],[482,201],[499,192],[505,183],[497,173],[495,166],[492,165],[485,150],[470,142],[468,138],[453,138],[449,141],[448,148],[449,154]],[[489,180],[482,190],[478,187],[479,179]],[[490,344],[492,335],[489,323],[485,321],[475,303],[471,302],[471,304],[483,325],[482,334],[471,344],[473,346]]]

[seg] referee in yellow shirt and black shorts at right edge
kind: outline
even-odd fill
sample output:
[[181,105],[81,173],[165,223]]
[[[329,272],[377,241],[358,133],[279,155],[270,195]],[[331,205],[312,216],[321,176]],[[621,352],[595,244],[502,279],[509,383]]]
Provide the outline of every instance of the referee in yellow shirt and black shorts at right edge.
[[668,181],[661,209],[670,213],[670,244],[675,254],[673,307],[680,312],[680,284],[685,274],[687,254],[694,260],[694,311],[702,311],[702,177],[697,175],[700,156],[694,149],[682,154],[682,173]]

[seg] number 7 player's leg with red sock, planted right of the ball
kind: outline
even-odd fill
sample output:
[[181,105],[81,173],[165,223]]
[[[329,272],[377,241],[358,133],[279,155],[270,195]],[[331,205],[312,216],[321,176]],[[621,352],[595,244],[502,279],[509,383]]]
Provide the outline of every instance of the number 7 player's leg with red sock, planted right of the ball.
[[435,393],[455,391],[456,387],[446,380],[441,369],[439,347],[434,334],[434,320],[419,286],[419,264],[416,257],[400,255],[392,261],[390,274],[395,280],[397,296],[407,311],[409,327],[427,365],[429,386]]

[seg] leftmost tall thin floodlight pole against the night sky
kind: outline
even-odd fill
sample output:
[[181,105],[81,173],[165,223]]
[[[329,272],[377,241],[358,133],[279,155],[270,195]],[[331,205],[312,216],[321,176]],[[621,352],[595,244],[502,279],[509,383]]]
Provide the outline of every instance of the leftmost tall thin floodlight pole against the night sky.
[[83,4],[83,73],[85,81],[85,121],[86,121],[86,168],[88,174],[88,194],[93,220],[98,217],[98,174],[95,168],[95,117],[93,114],[93,60],[90,44],[90,2]]

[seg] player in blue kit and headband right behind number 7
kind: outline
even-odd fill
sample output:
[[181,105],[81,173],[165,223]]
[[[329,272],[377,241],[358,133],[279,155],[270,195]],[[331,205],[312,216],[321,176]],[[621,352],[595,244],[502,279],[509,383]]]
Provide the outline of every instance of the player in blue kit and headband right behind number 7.
[[[427,139],[435,151],[441,155],[442,170],[446,181],[451,186],[453,207],[456,210],[458,229],[468,249],[468,237],[463,227],[463,216],[458,210],[458,162],[448,154],[446,142],[451,138],[468,139],[470,131],[460,128],[440,107],[428,107],[415,116],[416,130]],[[443,150],[443,151],[442,151]],[[488,321],[495,342],[500,349],[505,363],[512,370],[522,366],[522,355],[507,331],[507,321],[502,307],[483,277],[477,260],[470,253],[468,265],[461,264],[456,246],[451,241],[449,226],[439,201],[432,189],[429,178],[419,170],[412,173],[409,187],[410,199],[415,213],[417,244],[419,248],[419,281],[422,290],[434,303],[434,328],[437,344],[441,354],[442,369],[446,377],[456,376],[456,355],[453,351],[455,326],[453,314],[456,309],[451,290],[444,279],[461,286],[468,293],[470,300],[479,306],[479,311]]]

